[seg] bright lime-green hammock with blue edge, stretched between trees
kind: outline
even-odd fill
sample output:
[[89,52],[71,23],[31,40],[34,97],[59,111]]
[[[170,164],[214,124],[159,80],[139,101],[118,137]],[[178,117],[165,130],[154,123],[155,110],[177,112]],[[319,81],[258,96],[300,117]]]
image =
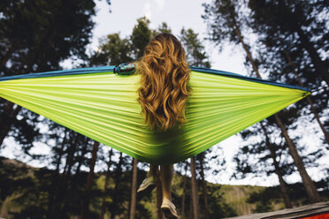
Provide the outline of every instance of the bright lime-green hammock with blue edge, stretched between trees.
[[0,78],[0,97],[150,163],[184,161],[299,101],[310,91],[191,67],[187,124],[165,133],[144,125],[140,75],[114,66]]

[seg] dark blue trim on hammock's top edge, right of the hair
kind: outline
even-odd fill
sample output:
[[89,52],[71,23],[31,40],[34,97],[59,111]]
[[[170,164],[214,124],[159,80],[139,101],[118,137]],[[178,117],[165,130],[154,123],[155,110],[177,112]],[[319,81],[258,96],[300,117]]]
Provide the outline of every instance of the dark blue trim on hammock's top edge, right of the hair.
[[214,70],[214,69],[208,69],[208,68],[203,68],[203,67],[193,67],[193,66],[190,66],[189,68],[195,72],[206,72],[206,73],[211,73],[211,74],[218,74],[218,75],[223,75],[223,76],[231,77],[231,78],[235,78],[235,79],[245,79],[245,80],[258,82],[258,83],[262,83],[262,84],[279,86],[279,87],[287,87],[287,88],[299,89],[299,90],[310,92],[310,89],[305,88],[305,87],[298,87],[298,86],[294,86],[294,85],[282,84],[279,82],[266,80],[266,79],[247,77],[247,76],[243,76],[241,74],[235,74],[232,72],[224,72],[224,71],[219,71],[219,70]]

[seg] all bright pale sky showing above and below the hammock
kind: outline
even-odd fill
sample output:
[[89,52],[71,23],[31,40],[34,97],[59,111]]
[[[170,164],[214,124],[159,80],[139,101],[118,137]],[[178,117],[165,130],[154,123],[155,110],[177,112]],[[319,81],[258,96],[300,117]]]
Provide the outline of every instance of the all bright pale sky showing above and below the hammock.
[[[207,25],[204,23],[201,15],[203,14],[203,3],[210,3],[210,0],[203,1],[188,1],[188,0],[112,0],[111,5],[105,1],[96,0],[97,13],[95,17],[96,27],[93,31],[92,43],[89,49],[97,49],[99,39],[107,34],[119,33],[121,37],[126,37],[132,33],[133,27],[137,24],[137,19],[146,16],[150,20],[150,28],[157,28],[162,22],[166,22],[172,29],[172,34],[180,34],[182,27],[192,28],[195,33],[199,34],[200,39],[207,37]],[[111,9],[111,13],[109,10]],[[234,46],[229,43],[226,44],[222,51],[219,51],[213,43],[204,41],[205,50],[210,56],[211,68],[226,72],[234,72],[242,75],[247,75],[247,70],[243,64],[244,56],[243,50],[239,46]],[[63,63],[63,66],[72,68],[72,63],[68,60]],[[294,134],[299,134],[302,137],[302,145],[320,145],[318,139],[313,137],[308,138],[307,134],[314,132],[313,128],[317,128],[314,124],[305,124],[304,128],[296,131]],[[220,142],[217,146],[212,147],[213,154],[223,155],[226,157],[226,170],[213,176],[212,170],[215,170],[217,163],[210,162],[212,168],[206,174],[206,179],[213,183],[230,184],[230,185],[278,185],[279,181],[275,175],[272,177],[247,177],[241,180],[231,178],[234,169],[232,162],[233,155],[236,154],[239,147],[245,142],[242,142],[238,135]],[[18,155],[19,147],[15,145],[11,139],[6,139],[5,144],[10,147],[5,147],[0,155],[5,155],[10,158],[15,158]],[[47,154],[49,149],[37,145],[34,148],[35,152]],[[306,149],[305,153],[311,152]],[[327,157],[326,157],[327,158]],[[323,158],[325,159],[325,158]],[[322,162],[325,162],[322,161]],[[34,166],[40,166],[39,163],[30,162]],[[322,169],[329,168],[324,165]],[[319,169],[308,169],[310,176],[316,180],[324,177],[323,172],[318,172]],[[287,177],[287,182],[295,183],[301,181],[297,173]]]

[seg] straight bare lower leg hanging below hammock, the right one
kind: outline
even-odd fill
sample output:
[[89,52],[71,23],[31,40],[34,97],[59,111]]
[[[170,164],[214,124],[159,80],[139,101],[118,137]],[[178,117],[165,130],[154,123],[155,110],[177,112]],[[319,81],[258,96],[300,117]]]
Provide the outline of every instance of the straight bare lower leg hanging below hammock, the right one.
[[172,165],[160,165],[163,198],[167,198],[168,200],[172,200],[172,174]]

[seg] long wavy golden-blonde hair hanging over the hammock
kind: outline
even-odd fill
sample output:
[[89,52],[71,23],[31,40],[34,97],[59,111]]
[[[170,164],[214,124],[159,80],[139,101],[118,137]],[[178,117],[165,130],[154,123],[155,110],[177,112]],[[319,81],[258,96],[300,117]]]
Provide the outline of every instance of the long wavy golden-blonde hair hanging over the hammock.
[[187,121],[189,72],[185,51],[172,34],[157,34],[145,48],[136,68],[142,75],[138,102],[152,130],[166,131]]

